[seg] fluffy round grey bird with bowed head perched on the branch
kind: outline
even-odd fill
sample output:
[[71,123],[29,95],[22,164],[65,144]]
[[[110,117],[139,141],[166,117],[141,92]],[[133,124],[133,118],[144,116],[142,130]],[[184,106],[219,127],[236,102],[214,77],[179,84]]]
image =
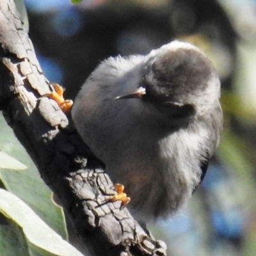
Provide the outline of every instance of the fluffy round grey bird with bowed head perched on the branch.
[[204,178],[223,124],[220,80],[194,45],[108,58],[77,95],[72,118],[147,223],[184,204]]

